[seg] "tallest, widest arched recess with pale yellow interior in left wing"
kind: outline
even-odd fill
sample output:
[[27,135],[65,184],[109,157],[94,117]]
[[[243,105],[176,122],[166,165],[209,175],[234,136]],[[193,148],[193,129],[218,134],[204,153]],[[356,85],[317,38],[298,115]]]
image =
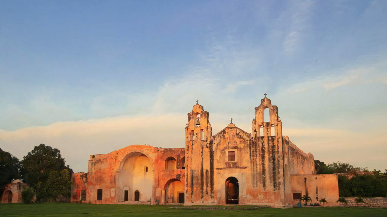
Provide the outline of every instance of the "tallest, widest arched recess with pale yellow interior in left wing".
[[118,201],[124,201],[125,190],[127,200],[134,201],[135,191],[139,192],[139,200],[152,200],[153,163],[140,152],[131,152],[123,158],[118,171]]

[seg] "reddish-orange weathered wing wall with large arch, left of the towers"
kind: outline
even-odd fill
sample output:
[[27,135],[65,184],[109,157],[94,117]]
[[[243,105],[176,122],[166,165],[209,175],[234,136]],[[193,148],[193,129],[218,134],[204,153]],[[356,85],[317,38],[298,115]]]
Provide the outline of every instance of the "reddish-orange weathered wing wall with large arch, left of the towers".
[[[184,185],[181,160],[183,148],[157,148],[149,145],[132,145],[108,154],[90,156],[88,173],[75,173],[71,202],[79,202],[81,190],[86,190],[84,203],[149,204],[164,202],[165,190],[171,181]],[[166,159],[174,158],[176,166],[166,170]],[[87,178],[86,178],[87,176]],[[102,200],[97,200],[102,189]],[[125,201],[125,190],[128,200]],[[139,191],[139,201],[134,193]],[[83,202],[83,201],[82,201]]]

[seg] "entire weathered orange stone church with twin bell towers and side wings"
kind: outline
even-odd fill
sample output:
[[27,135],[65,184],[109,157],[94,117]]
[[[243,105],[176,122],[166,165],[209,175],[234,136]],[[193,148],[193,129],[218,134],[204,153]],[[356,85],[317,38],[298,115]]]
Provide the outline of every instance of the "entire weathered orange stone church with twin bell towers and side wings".
[[337,175],[315,175],[313,155],[282,135],[278,108],[265,97],[255,107],[252,134],[231,119],[212,135],[209,112],[197,103],[184,148],[132,145],[91,155],[88,172],[72,176],[71,202],[285,208],[303,195],[333,206],[338,192]]

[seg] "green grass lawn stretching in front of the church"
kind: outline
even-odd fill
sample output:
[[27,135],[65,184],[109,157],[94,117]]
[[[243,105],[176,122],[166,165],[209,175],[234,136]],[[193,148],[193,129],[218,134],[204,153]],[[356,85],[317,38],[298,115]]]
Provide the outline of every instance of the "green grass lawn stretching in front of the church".
[[387,216],[387,209],[317,207],[260,210],[173,210],[163,205],[108,205],[80,203],[0,204],[0,216],[151,216],[151,217],[248,217],[248,216]]

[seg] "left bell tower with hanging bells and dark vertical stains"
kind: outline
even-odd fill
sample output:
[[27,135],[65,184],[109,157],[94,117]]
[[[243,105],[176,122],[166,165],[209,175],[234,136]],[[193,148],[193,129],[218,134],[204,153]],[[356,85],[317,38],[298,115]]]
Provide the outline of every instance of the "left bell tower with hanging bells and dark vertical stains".
[[214,149],[209,113],[196,103],[187,116],[184,201],[186,205],[213,204]]

